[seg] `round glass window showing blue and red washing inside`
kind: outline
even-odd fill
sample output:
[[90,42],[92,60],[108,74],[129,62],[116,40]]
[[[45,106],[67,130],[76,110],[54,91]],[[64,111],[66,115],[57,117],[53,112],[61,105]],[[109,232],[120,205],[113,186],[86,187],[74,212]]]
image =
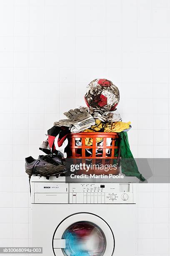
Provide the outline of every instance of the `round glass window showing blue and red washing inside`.
[[103,256],[106,249],[106,238],[96,224],[79,221],[70,225],[62,235],[65,239],[65,256]]

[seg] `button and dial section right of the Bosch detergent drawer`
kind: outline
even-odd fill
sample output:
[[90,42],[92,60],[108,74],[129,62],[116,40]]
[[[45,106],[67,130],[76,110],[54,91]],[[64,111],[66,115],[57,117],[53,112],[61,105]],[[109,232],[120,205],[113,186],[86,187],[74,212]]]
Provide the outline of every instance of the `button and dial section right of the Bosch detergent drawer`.
[[132,184],[117,183],[70,183],[70,204],[133,204]]

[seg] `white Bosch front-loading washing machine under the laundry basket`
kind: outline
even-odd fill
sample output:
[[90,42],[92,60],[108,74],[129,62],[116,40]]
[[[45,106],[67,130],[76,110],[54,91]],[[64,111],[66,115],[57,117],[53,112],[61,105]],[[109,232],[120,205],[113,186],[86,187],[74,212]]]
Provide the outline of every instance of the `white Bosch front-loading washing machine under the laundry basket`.
[[64,179],[32,177],[32,247],[43,256],[135,256],[135,183]]

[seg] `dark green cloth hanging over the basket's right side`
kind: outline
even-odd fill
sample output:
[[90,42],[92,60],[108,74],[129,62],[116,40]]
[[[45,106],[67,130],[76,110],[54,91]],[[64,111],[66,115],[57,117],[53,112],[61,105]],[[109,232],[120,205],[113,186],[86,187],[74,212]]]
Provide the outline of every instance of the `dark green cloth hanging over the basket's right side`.
[[[140,181],[145,181],[145,178],[138,171],[138,166],[132,152],[130,151],[128,133],[120,132],[119,136],[122,174],[125,174],[125,176],[137,177]],[[118,156],[118,150],[115,151],[115,156]]]

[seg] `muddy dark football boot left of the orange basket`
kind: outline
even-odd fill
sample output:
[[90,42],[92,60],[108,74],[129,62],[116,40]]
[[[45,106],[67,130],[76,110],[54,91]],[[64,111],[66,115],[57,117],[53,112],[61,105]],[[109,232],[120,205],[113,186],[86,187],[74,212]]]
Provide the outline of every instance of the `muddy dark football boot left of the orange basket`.
[[[54,160],[53,160],[54,161]],[[62,164],[52,164],[45,159],[34,159],[32,156],[25,158],[25,171],[28,175],[55,176],[66,172]]]

